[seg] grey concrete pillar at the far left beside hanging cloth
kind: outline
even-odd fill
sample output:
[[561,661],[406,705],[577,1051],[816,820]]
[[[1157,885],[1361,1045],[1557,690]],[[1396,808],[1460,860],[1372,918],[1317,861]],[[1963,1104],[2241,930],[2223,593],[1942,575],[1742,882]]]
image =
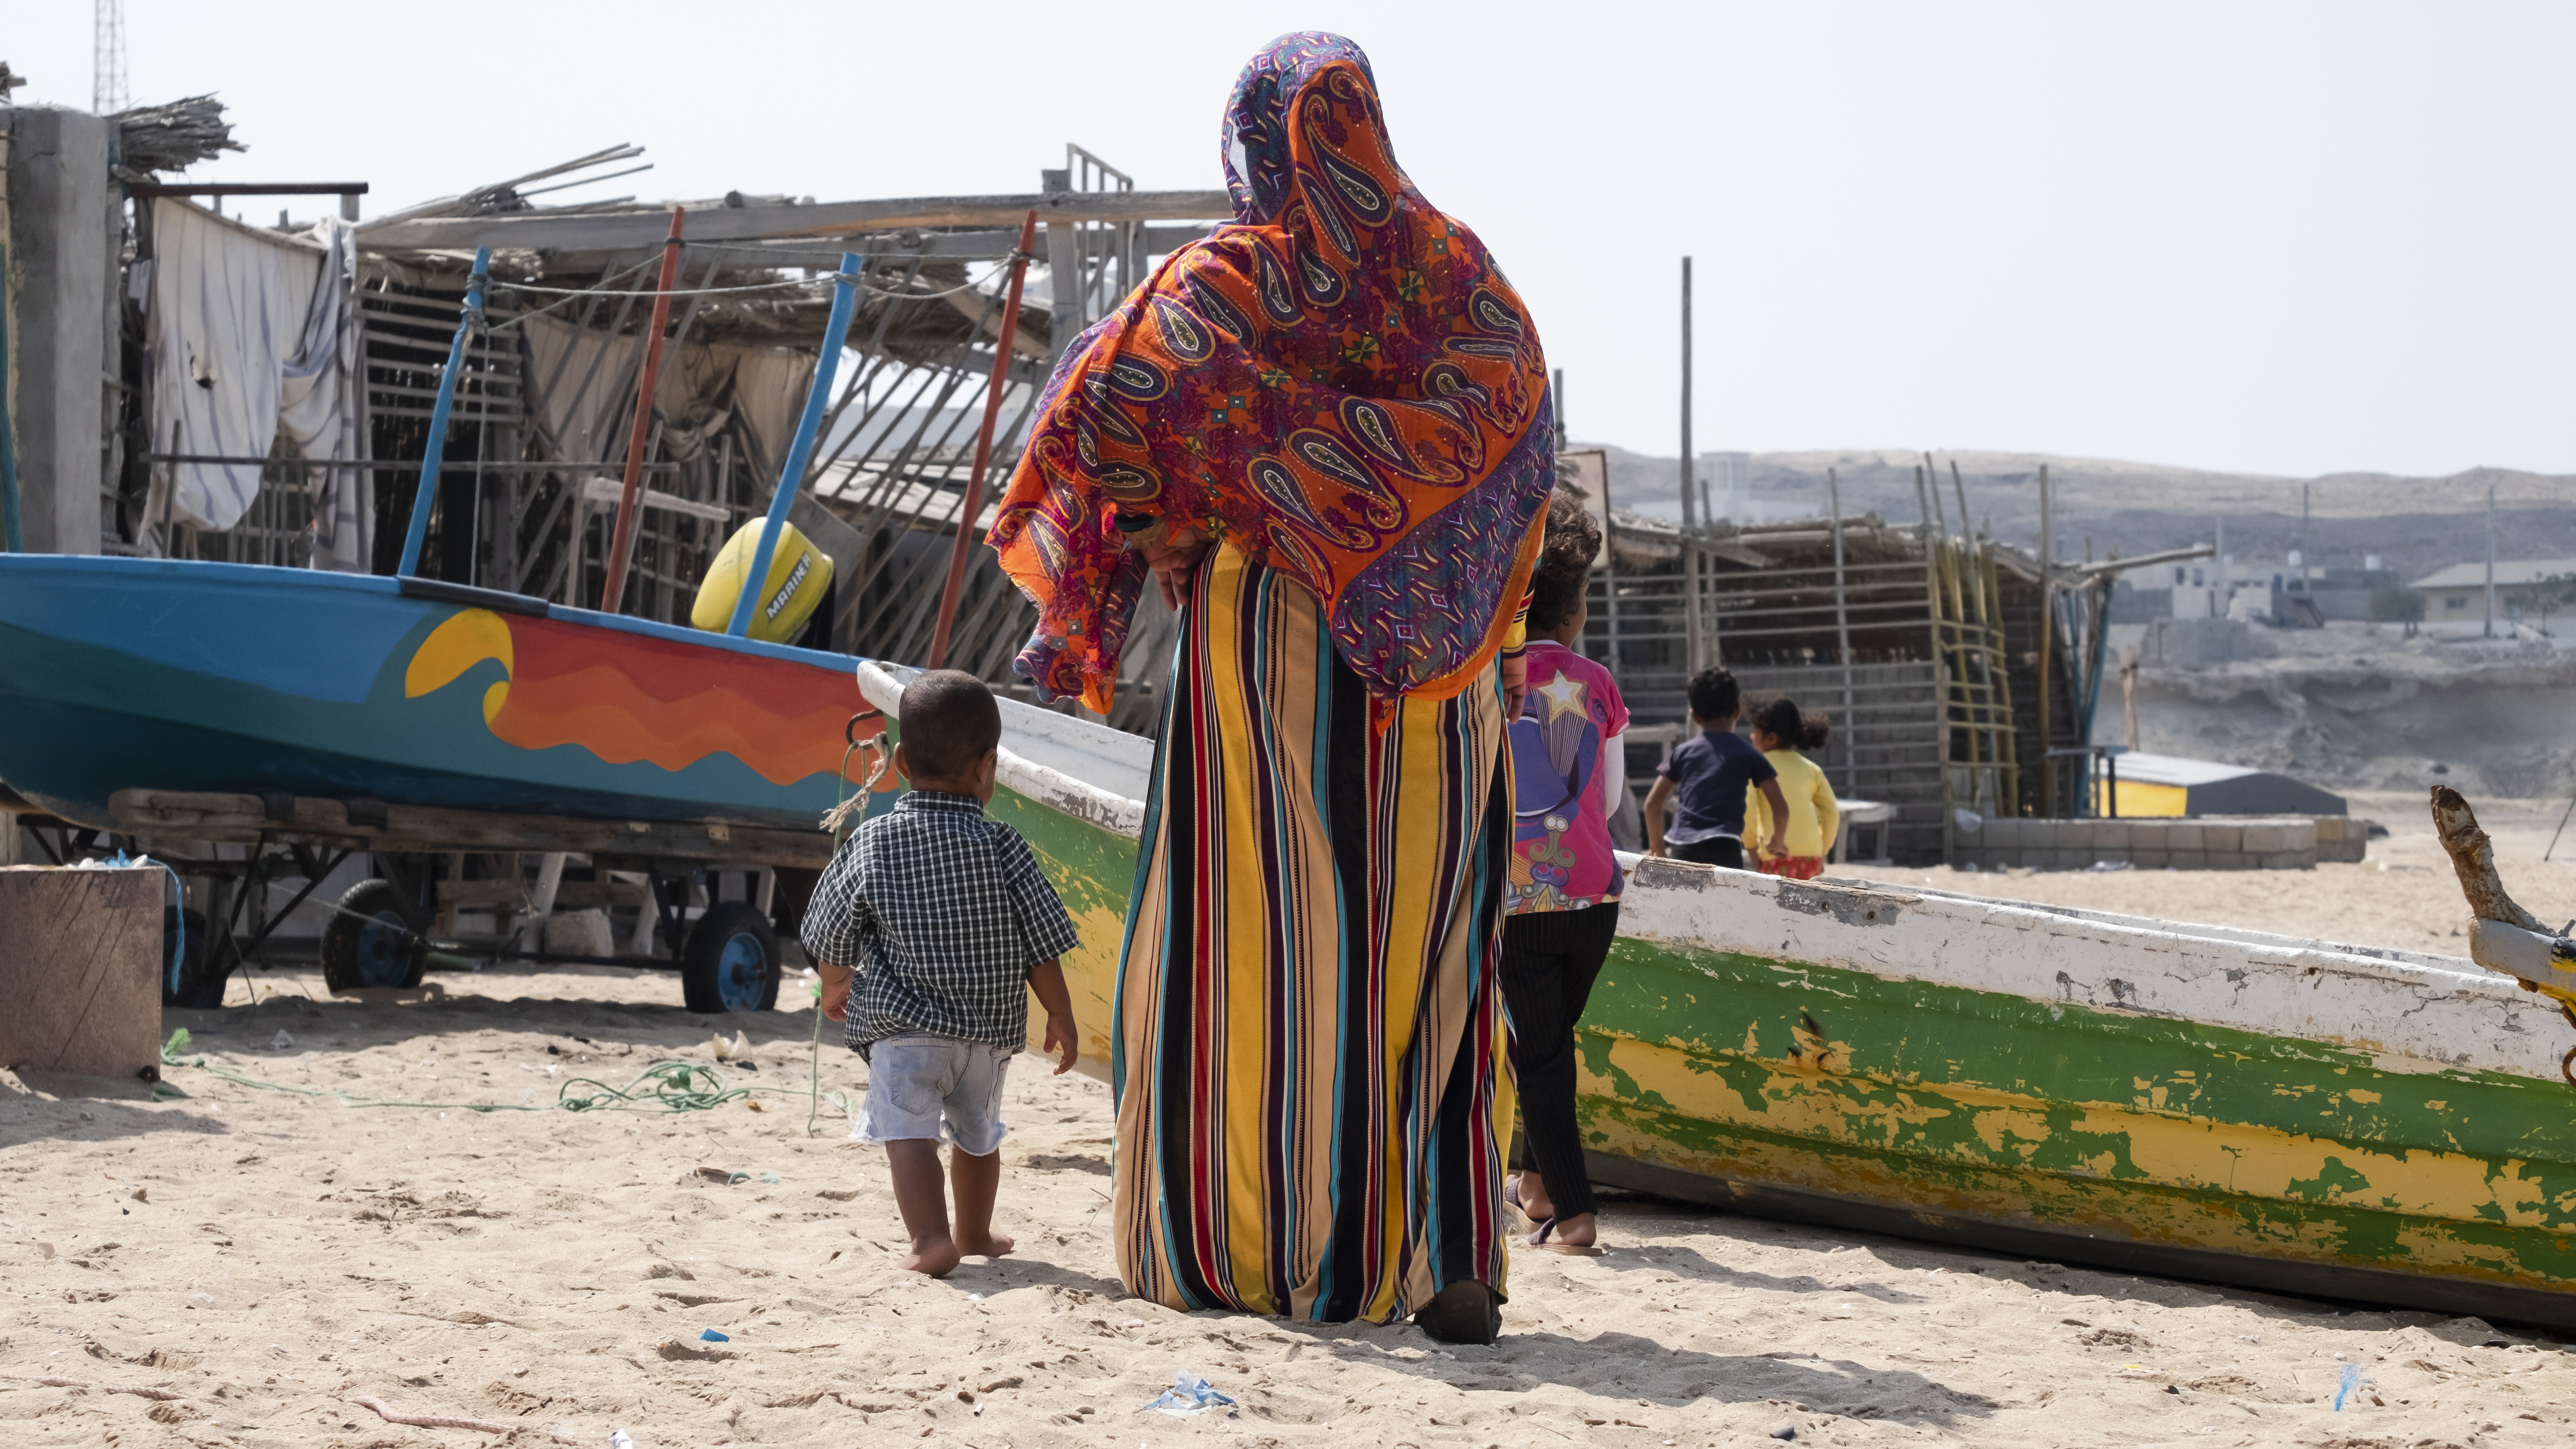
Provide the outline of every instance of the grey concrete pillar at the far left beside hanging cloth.
[[106,533],[106,378],[116,358],[121,193],[113,126],[85,111],[8,113],[10,420],[31,553],[98,553]]

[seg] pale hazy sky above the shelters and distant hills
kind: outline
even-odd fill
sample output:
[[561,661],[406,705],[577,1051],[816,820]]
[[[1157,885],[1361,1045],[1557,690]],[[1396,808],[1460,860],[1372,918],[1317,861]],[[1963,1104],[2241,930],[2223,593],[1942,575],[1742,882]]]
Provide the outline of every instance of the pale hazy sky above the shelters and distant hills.
[[[1249,0],[435,10],[126,0],[131,98],[214,90],[196,180],[368,211],[634,142],[554,201],[1036,190],[1079,142],[1221,185],[1288,28],[1358,39],[1574,438],[1994,448],[2259,474],[2576,474],[2576,5]],[[90,103],[90,5],[15,5],[21,103]]]

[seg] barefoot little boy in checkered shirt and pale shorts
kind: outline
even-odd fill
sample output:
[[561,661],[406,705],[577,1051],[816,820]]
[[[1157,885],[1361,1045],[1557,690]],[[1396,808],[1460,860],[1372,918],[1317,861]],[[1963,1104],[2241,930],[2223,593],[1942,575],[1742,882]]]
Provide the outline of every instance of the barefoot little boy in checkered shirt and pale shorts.
[[[1056,957],[1074,921],[1020,831],[984,818],[1002,710],[974,674],[933,669],[902,703],[894,770],[912,793],[863,824],[814,885],[804,947],[822,973],[822,1009],[848,1019],[868,1063],[850,1132],[886,1145],[894,1204],[912,1235],[904,1266],[948,1277],[966,1253],[999,1259],[1002,1073],[1028,1045],[1028,991],[1046,1006],[1056,1073],[1074,1066],[1074,1004]],[[855,986],[853,986],[855,968]],[[940,1186],[940,1132],[953,1153]]]

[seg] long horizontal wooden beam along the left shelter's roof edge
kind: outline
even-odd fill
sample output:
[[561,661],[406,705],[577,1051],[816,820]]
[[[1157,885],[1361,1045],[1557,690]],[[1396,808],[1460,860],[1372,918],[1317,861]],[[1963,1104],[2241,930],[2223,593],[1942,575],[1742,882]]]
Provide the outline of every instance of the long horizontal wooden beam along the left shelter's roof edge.
[[[1038,211],[1041,221],[1190,221],[1231,219],[1224,190],[1048,190],[1041,196],[922,196],[904,201],[827,201],[819,206],[711,206],[688,214],[690,242],[762,242],[773,237],[848,237],[909,226],[1005,226]],[[371,252],[546,247],[613,252],[649,247],[670,229],[670,211],[417,216],[361,226]]]

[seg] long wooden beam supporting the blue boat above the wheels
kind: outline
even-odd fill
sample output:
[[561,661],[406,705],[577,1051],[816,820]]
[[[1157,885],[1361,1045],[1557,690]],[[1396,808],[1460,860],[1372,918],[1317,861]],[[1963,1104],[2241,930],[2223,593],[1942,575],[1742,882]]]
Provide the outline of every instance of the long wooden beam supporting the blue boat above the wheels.
[[[832,860],[832,836],[814,831],[742,826],[724,821],[582,821],[569,816],[507,816],[495,811],[440,811],[299,795],[278,798],[270,813],[260,795],[118,790],[108,798],[116,829],[196,842],[304,839],[384,852],[567,852],[636,854],[654,860],[706,860],[734,865],[806,865]],[[381,811],[381,824],[374,824]]]

